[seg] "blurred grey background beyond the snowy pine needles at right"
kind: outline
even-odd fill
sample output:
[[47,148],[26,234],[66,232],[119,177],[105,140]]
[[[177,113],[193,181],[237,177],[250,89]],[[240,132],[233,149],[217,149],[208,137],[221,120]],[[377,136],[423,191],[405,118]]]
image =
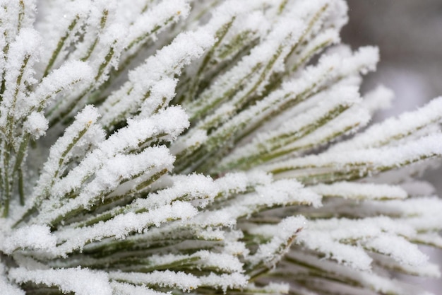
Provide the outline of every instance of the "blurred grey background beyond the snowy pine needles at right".
[[[350,21],[342,31],[342,40],[353,49],[378,45],[381,52],[378,69],[366,77],[362,91],[381,83],[396,95],[393,108],[379,112],[376,120],[415,110],[442,96],[442,0],[347,2]],[[442,196],[442,168],[423,177]],[[442,267],[441,250],[426,252]],[[442,279],[419,279],[419,284],[442,294]]]

